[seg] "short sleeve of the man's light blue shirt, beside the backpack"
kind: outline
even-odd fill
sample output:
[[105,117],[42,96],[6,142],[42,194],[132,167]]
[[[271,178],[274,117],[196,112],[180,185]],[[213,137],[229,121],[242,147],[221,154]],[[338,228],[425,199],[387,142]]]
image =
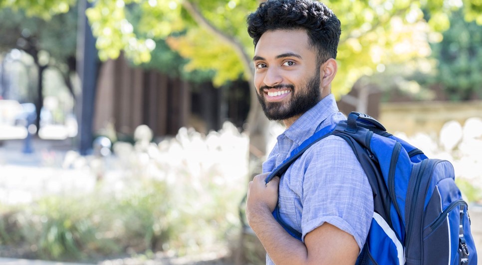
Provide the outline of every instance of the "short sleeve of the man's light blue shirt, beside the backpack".
[[329,136],[304,155],[303,242],[306,234],[328,222],[352,235],[361,250],[373,217],[373,195],[351,147]]

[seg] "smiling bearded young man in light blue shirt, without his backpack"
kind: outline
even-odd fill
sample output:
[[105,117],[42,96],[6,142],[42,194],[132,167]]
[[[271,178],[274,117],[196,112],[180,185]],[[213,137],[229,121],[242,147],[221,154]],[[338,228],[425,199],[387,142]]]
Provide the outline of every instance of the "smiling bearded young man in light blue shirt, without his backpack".
[[[373,216],[368,179],[345,140],[329,136],[281,177],[265,177],[321,128],[345,117],[331,94],[340,21],[314,0],[268,0],[248,18],[254,39],[254,84],[265,115],[286,130],[249,183],[246,217],[266,264],[355,264]],[[273,218],[302,234],[299,241]]]

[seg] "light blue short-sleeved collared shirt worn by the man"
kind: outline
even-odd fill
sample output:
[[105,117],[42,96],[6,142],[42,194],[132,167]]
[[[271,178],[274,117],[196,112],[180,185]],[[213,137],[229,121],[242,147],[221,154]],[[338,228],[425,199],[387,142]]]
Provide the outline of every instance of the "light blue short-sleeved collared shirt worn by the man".
[[[334,96],[324,97],[277,137],[263,172],[271,172],[315,132],[344,119]],[[348,143],[328,136],[306,150],[281,177],[278,208],[283,221],[302,234],[303,242],[306,234],[328,222],[352,235],[361,251],[373,217],[373,195]],[[266,264],[273,264],[268,256]]]

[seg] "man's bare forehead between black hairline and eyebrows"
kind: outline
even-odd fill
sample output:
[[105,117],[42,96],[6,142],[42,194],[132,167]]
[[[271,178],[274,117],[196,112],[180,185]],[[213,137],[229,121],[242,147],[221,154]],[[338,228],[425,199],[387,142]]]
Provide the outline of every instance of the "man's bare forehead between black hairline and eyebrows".
[[264,32],[254,49],[255,56],[264,58],[275,57],[284,53],[296,53],[315,56],[310,48],[308,34],[304,29],[279,29]]

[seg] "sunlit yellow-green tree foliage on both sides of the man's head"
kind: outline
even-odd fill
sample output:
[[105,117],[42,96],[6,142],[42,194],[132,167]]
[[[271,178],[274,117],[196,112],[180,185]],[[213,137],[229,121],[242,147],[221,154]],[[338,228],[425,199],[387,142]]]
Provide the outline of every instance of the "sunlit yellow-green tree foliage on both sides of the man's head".
[[[7,0],[19,8],[33,8],[26,0]],[[71,5],[73,0],[45,0]],[[121,51],[135,63],[151,59],[156,39],[189,58],[186,70],[209,69],[214,83],[221,85],[240,76],[249,80],[251,91],[253,45],[247,35],[245,17],[261,0],[96,0],[87,10],[101,59],[116,58]],[[338,74],[332,92],[347,93],[361,76],[377,67],[430,54],[428,40],[442,38],[449,28],[449,14],[463,9],[465,19],[482,24],[480,0],[326,0],[339,16],[342,36],[338,49]],[[5,3],[3,3],[5,5]],[[40,4],[34,4],[37,7]],[[64,5],[64,6],[65,6]],[[134,23],[132,12],[140,19]],[[49,9],[44,9],[49,14]],[[43,14],[36,10],[35,14]],[[424,16],[425,14],[428,14]],[[140,14],[140,15],[139,15]],[[254,92],[250,93],[249,132],[264,131]],[[254,144],[261,148],[264,143]],[[252,137],[251,137],[252,139]]]

